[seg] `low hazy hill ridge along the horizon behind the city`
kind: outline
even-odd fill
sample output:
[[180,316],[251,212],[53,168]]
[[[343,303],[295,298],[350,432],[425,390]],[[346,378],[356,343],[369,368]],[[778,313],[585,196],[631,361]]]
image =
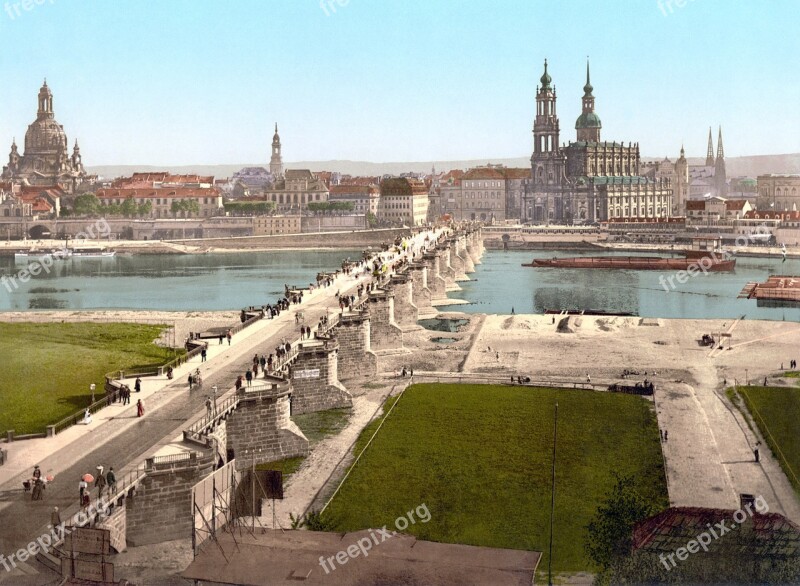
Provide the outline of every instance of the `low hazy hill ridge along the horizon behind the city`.
[[[645,160],[658,160],[663,157],[644,157]],[[670,157],[673,161],[675,157]],[[690,158],[689,164],[702,165],[705,159]],[[507,167],[528,167],[529,157],[510,159],[473,159],[465,161],[423,161],[412,163],[372,163],[369,161],[297,161],[286,163],[289,169],[311,169],[312,171],[338,171],[347,175],[379,176],[399,175],[400,173],[430,173],[431,167],[437,171],[450,169],[469,169],[492,163]],[[240,165],[99,165],[88,167],[87,171],[96,173],[106,179],[129,176],[134,172],[169,171],[171,173],[196,173],[214,175],[217,178],[230,177],[243,167],[269,167],[264,162],[242,163]],[[748,157],[730,157],[726,159],[728,177],[757,177],[764,173],[800,173],[800,153],[787,155],[756,155]]]

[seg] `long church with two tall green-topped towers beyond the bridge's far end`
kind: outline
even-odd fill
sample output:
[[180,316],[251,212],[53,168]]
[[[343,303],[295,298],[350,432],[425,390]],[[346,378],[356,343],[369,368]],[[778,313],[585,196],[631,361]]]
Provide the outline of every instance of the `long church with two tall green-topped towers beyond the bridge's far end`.
[[575,142],[559,146],[556,88],[547,71],[547,60],[540,82],[531,181],[521,210],[523,221],[579,224],[670,216],[671,179],[640,173],[639,144],[600,140],[602,123],[594,111],[588,62]]

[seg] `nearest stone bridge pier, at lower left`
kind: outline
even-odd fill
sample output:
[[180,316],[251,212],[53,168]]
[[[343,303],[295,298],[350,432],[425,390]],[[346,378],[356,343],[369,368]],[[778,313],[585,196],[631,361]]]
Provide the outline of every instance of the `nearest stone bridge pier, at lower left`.
[[147,476],[125,500],[127,542],[132,546],[191,539],[192,487],[214,468],[212,454],[148,458]]

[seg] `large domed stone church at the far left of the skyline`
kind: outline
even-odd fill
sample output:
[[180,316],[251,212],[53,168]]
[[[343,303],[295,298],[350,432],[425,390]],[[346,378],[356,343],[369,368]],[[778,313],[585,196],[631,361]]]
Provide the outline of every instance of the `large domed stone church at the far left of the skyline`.
[[45,80],[39,90],[36,120],[25,133],[25,152],[20,155],[16,140],[11,143],[2,178],[22,185],[58,186],[67,193],[75,193],[87,175],[78,141],[75,141],[72,155],[68,151],[67,135],[64,127],[56,122],[53,93]]

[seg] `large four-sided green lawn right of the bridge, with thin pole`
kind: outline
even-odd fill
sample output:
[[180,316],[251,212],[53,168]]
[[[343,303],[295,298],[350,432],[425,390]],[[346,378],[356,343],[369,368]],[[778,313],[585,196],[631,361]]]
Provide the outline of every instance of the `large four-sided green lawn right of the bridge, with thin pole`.
[[[652,404],[628,395],[486,385],[415,385],[399,400],[325,510],[342,531],[394,526],[422,504],[421,539],[543,552],[550,526],[553,411],[558,450],[553,567],[587,570],[585,526],[613,486],[634,475],[668,505]],[[387,407],[388,410],[388,407]],[[373,422],[357,444],[372,436]]]

